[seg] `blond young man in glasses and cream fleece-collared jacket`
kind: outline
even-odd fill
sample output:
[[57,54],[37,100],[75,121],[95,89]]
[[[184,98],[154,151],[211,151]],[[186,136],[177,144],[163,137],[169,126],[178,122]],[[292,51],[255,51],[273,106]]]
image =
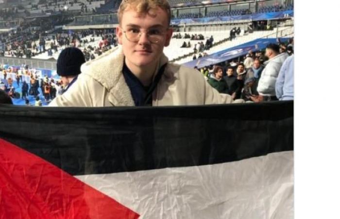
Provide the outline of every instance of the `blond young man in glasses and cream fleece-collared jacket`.
[[[68,92],[50,106],[178,106],[233,103],[197,71],[169,63],[172,36],[167,0],[129,0],[119,6],[116,47],[82,66]],[[239,100],[237,102],[243,102]]]

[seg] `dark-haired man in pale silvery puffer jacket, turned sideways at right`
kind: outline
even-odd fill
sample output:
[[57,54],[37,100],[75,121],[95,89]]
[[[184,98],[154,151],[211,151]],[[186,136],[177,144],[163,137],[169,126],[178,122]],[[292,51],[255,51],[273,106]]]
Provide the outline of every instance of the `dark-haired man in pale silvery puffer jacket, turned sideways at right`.
[[283,62],[288,57],[287,53],[279,54],[277,44],[269,44],[266,47],[266,54],[269,60],[265,62],[266,67],[263,69],[260,80],[258,81],[258,97],[252,97],[254,102],[278,100],[275,93],[276,78],[279,74]]

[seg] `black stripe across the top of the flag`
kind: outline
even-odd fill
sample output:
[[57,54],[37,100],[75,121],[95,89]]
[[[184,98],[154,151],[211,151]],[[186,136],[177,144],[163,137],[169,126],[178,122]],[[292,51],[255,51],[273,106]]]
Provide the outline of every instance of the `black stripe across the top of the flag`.
[[73,175],[218,164],[293,150],[293,102],[141,108],[1,106],[0,138]]

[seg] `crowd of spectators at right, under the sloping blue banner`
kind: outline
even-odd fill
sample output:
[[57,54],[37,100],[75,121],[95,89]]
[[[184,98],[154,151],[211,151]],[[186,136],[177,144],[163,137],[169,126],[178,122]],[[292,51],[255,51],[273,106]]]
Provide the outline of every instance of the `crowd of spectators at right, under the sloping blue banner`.
[[293,39],[249,52],[242,61],[197,69],[221,93],[248,102],[293,99]]

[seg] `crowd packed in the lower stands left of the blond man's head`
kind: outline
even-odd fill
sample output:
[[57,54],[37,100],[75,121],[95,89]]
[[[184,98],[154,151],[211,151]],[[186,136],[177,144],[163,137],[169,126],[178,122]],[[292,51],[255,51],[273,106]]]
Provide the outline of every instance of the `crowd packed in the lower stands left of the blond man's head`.
[[[10,55],[19,58],[31,58],[45,52],[47,52],[48,56],[52,56],[65,47],[73,46],[83,48],[86,61],[88,61],[118,45],[117,37],[111,29],[81,30],[71,34],[61,31],[60,33],[49,35],[49,37],[42,37],[41,34],[40,32],[28,33],[10,43],[6,43],[5,48],[0,48],[0,56]],[[90,36],[89,39],[88,36]],[[102,38],[96,46],[93,46],[94,37]],[[0,35],[0,42],[6,38],[10,38],[10,34]]]

